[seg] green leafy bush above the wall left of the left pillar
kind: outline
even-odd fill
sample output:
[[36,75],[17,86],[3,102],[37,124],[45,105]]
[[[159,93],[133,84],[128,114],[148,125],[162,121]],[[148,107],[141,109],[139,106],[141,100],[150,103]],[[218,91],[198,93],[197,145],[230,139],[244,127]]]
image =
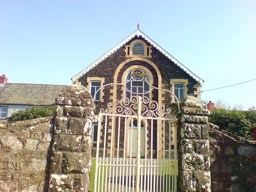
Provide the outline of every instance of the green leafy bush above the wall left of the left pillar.
[[19,110],[7,118],[7,121],[22,121],[28,119],[35,119],[39,117],[46,117],[56,113],[56,106],[26,108],[26,110]]

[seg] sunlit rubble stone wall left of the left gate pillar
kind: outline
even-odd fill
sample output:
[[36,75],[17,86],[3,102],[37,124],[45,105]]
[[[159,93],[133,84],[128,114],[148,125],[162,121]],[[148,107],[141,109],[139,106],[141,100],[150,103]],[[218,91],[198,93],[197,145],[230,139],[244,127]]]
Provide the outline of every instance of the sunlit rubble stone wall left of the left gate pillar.
[[46,192],[54,117],[0,124],[0,192]]

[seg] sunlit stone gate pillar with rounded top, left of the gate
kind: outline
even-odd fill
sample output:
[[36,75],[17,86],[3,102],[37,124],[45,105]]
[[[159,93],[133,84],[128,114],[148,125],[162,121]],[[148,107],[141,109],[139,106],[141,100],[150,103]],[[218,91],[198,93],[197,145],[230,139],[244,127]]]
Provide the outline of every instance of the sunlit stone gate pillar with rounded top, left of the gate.
[[67,86],[56,98],[49,192],[88,191],[94,103],[88,90]]

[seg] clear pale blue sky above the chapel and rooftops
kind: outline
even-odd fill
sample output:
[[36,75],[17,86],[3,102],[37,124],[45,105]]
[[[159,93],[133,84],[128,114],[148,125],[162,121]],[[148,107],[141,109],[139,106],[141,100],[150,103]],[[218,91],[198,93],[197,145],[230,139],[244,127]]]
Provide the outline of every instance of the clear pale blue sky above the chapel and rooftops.
[[[0,1],[0,75],[8,82],[72,84],[137,28],[205,82],[256,79],[255,0]],[[256,80],[203,92],[256,107]]]

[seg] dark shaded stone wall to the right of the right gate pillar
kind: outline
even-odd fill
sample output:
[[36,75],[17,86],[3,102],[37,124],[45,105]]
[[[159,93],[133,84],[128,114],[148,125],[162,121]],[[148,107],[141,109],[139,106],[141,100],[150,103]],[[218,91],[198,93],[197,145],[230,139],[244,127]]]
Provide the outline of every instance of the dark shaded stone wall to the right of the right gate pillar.
[[256,141],[210,124],[212,192],[256,192]]

